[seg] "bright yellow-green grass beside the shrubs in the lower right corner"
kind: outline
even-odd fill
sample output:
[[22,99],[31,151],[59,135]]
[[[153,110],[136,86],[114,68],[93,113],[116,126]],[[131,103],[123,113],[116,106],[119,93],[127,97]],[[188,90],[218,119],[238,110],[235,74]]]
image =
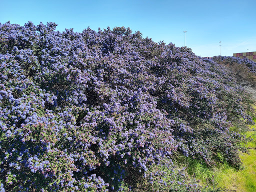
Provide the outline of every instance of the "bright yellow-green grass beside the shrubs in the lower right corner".
[[[255,107],[255,106],[254,106]],[[256,118],[253,120],[256,122]],[[256,129],[256,124],[250,126]],[[218,164],[209,168],[200,162],[190,159],[187,161],[187,172],[192,177],[200,180],[201,185],[212,188],[222,188],[222,191],[255,192],[256,191],[256,131],[245,132],[251,138],[246,143],[249,154],[240,153],[243,168],[236,170],[228,164]]]

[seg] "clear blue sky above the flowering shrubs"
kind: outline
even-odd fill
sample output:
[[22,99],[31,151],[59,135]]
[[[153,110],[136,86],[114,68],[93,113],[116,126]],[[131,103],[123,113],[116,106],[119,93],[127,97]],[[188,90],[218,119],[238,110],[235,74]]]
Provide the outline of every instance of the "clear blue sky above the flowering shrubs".
[[56,30],[77,32],[124,26],[176,46],[184,46],[185,34],[185,45],[199,56],[219,55],[220,48],[227,56],[256,51],[256,0],[0,0],[0,5],[1,23],[52,21]]

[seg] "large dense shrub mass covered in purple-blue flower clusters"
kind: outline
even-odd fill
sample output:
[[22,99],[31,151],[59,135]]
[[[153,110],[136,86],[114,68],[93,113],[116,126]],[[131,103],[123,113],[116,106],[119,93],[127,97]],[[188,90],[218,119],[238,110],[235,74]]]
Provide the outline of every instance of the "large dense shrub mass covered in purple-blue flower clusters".
[[[0,191],[203,191],[175,159],[241,162],[231,72],[139,31],[0,24]],[[206,190],[206,189],[205,189]]]

